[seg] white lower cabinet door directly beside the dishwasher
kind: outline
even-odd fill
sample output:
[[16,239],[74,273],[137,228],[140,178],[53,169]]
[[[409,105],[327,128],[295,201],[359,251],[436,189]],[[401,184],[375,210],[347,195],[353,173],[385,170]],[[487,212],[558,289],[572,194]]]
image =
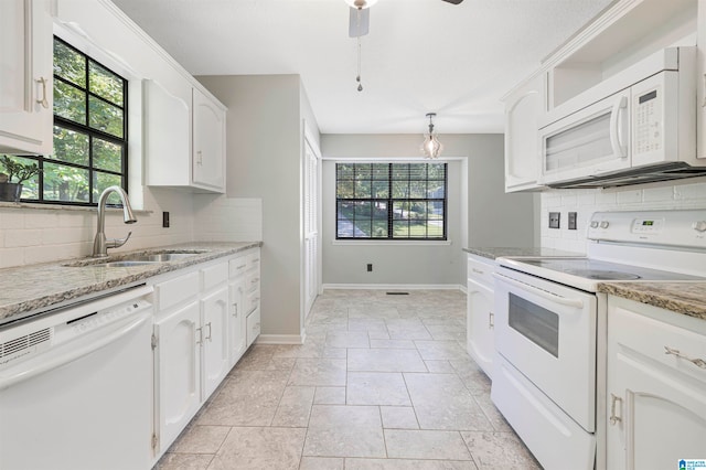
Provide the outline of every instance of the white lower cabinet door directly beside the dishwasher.
[[201,331],[199,303],[191,302],[157,322],[160,447],[165,449],[179,436],[201,406]]

